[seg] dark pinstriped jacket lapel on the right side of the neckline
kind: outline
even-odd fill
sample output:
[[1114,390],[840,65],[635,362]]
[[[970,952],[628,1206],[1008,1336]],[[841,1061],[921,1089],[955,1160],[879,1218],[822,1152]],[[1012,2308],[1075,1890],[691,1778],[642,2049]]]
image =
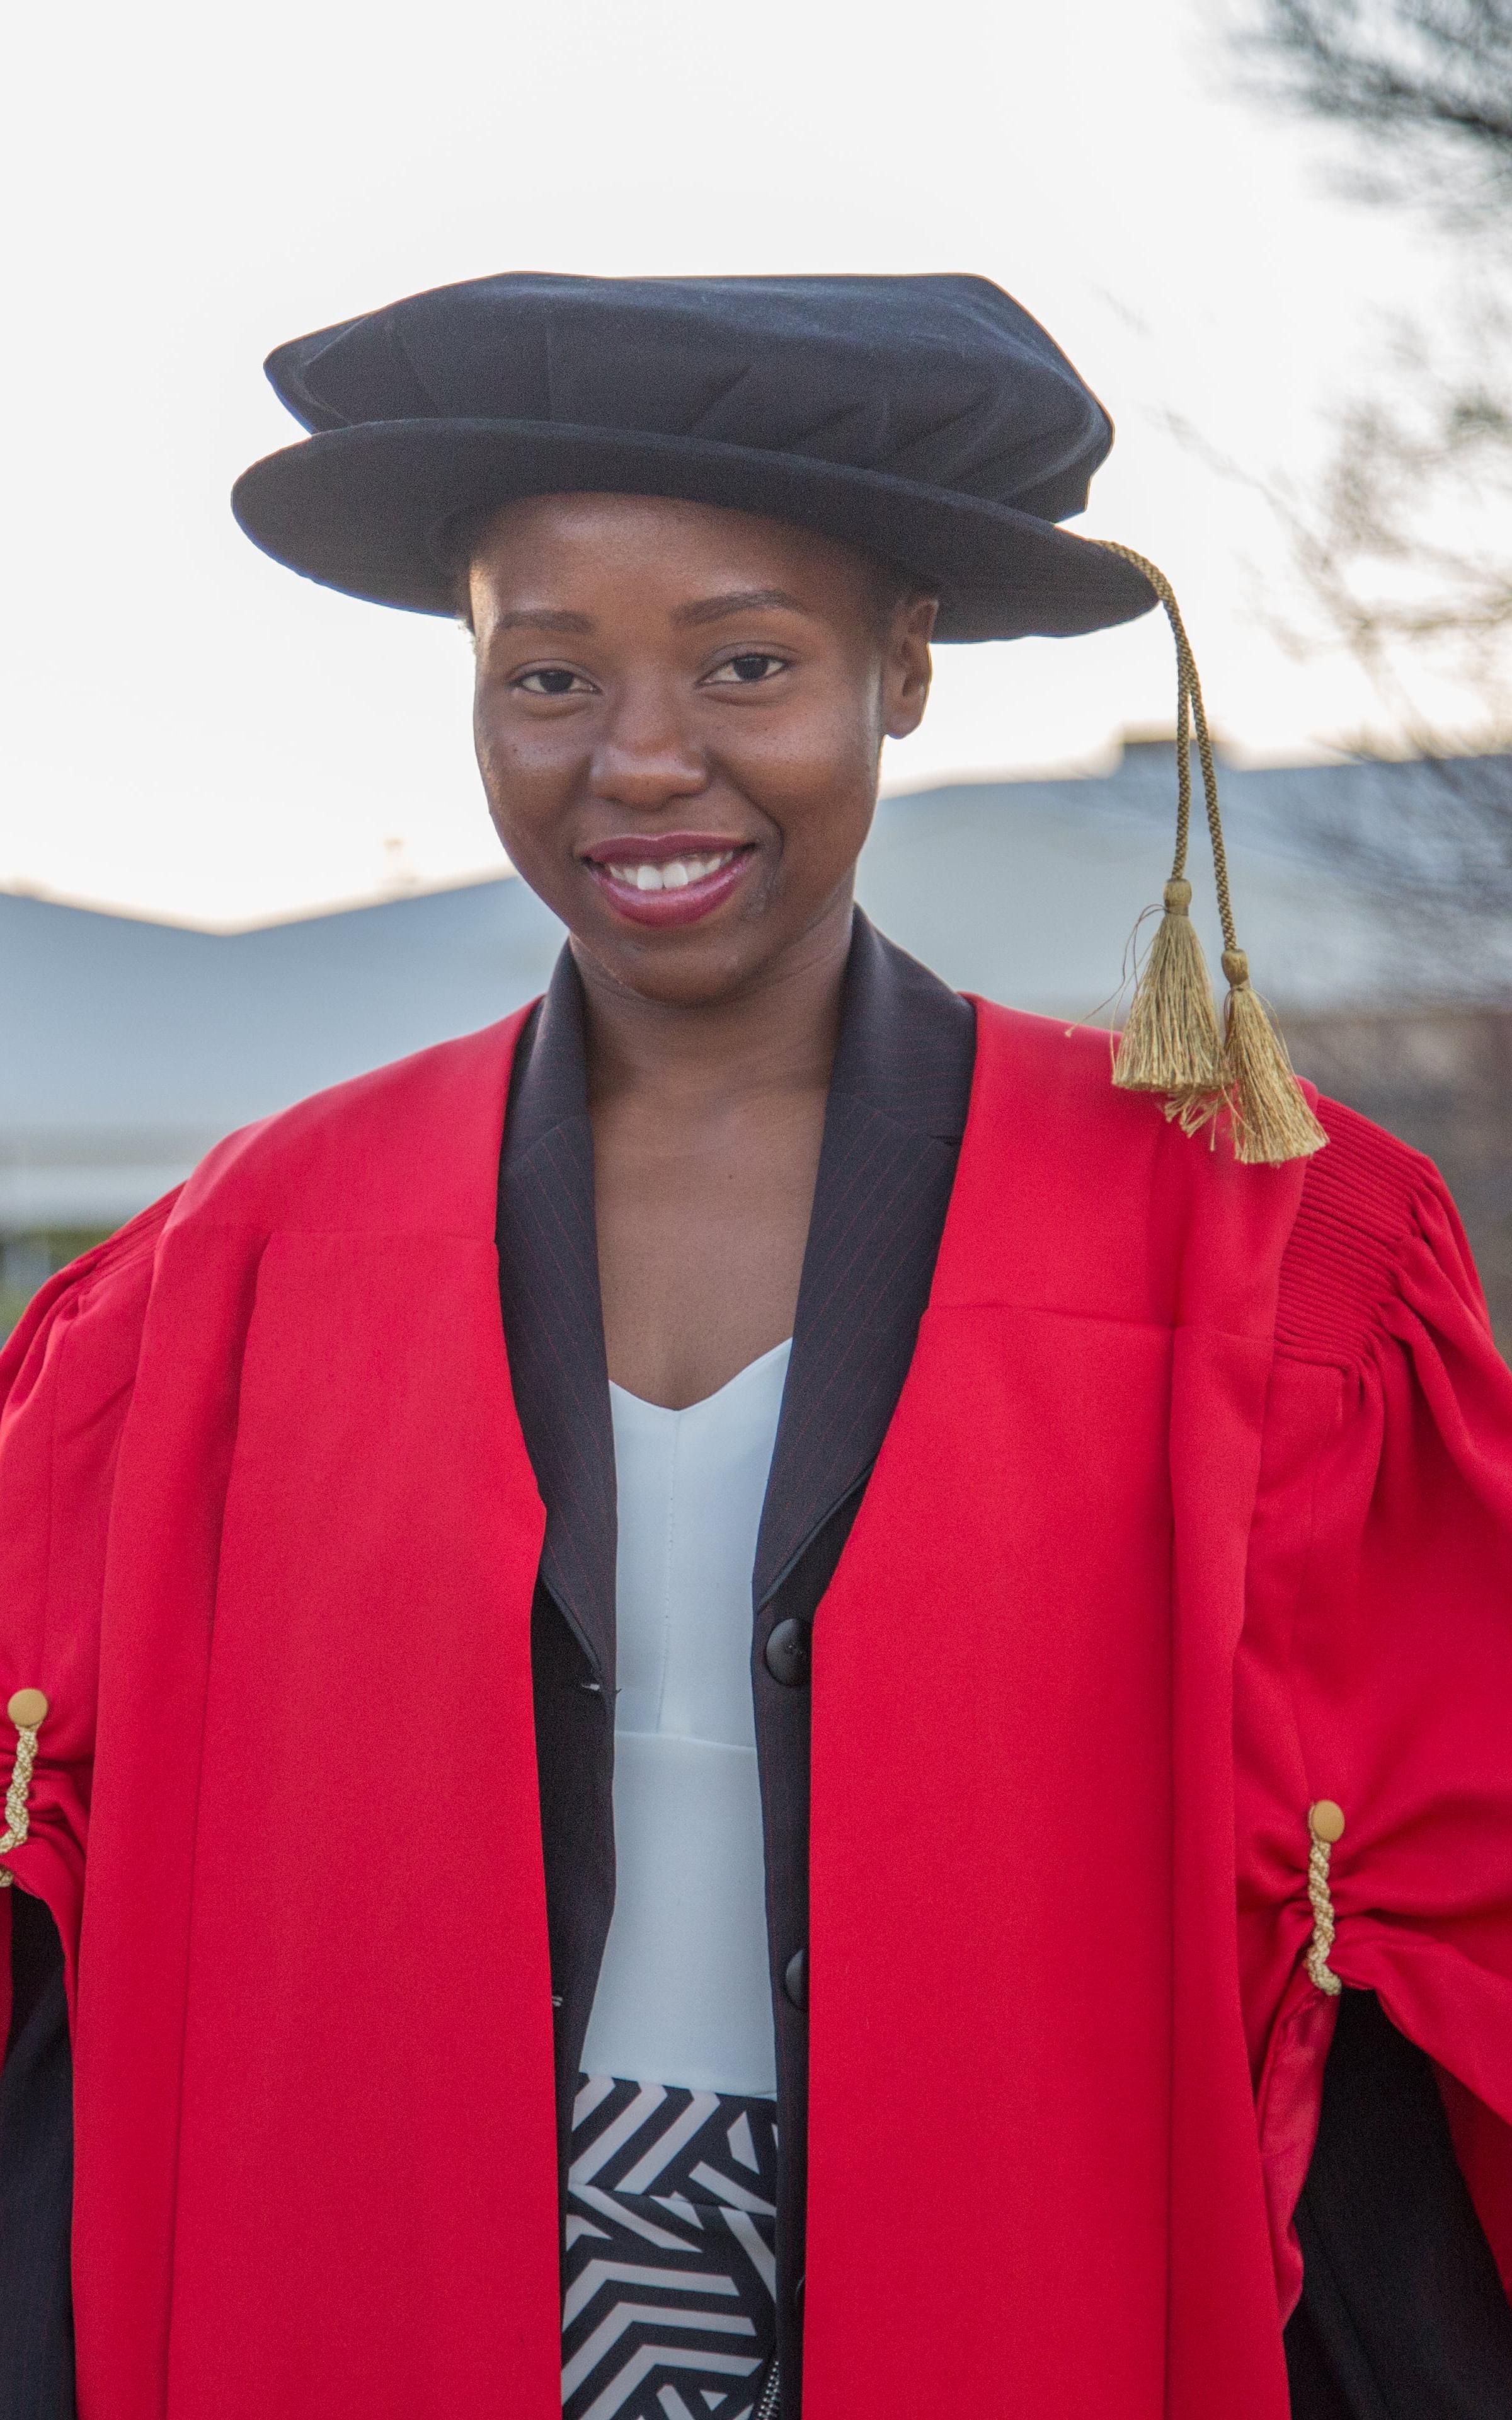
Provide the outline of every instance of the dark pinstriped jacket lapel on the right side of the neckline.
[[960,992],[856,910],[757,1607],[878,1457],[929,1302],[975,1041]]

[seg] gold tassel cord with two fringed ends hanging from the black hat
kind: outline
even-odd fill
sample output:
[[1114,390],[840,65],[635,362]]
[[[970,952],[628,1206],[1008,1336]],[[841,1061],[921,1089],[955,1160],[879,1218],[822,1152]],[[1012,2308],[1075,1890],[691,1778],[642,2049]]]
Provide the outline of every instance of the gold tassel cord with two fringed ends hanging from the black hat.
[[[1113,1082],[1127,1091],[1166,1094],[1166,1116],[1190,1135],[1219,1108],[1229,1111],[1234,1154],[1246,1162],[1306,1159],[1328,1140],[1302,1091],[1287,1045],[1260,995],[1251,987],[1248,958],[1234,929],[1229,859],[1217,801],[1217,762],[1202,704],[1198,661],[1181,620],[1176,590],[1156,564],[1132,547],[1103,540],[1108,554],[1132,564],[1166,607],[1176,641],[1176,857],[1164,893],[1164,915],[1139,968]],[[1190,922],[1193,886],[1185,854],[1193,811],[1190,748],[1198,743],[1202,803],[1212,847],[1212,881],[1224,934],[1229,997],[1219,1033],[1202,944]]]

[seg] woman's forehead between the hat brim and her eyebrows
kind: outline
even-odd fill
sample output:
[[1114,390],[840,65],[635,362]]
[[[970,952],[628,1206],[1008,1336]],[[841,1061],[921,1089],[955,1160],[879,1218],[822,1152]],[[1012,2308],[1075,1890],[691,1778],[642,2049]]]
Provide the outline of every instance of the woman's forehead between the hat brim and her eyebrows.
[[876,578],[871,557],[791,520],[670,496],[523,496],[477,525],[469,559],[474,595],[496,605],[636,583],[670,603],[784,588],[823,612],[854,607]]

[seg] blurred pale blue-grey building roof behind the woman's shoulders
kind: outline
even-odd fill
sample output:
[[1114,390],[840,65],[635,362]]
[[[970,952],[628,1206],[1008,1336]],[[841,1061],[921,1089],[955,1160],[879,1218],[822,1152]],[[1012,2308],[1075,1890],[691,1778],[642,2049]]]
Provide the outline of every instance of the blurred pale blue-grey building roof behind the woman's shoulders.
[[[1234,900],[1256,983],[1299,1009],[1396,990],[1369,900],[1309,864],[1309,823],[1374,813],[1420,767],[1229,772]],[[1171,849],[1171,745],[1098,779],[963,782],[885,799],[859,898],[963,990],[1110,1021]],[[1198,898],[1210,898],[1193,837]],[[1217,953],[1212,915],[1205,939]],[[467,1033],[547,983],[561,927],[508,874],[210,934],[0,893],[0,1229],[109,1227],[223,1133]]]

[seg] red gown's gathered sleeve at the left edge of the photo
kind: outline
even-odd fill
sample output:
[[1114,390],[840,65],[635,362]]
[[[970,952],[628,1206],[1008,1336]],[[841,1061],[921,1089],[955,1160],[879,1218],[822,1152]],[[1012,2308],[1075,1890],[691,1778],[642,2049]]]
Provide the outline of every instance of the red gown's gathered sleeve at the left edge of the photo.
[[[172,1198],[56,1275],[0,1353],[0,1791],[22,1735],[5,1709],[46,1696],[22,1771],[24,1839],[0,1856],[44,1900],[73,1994],[90,1774],[99,1694],[99,1617],[121,1430],[131,1408],[152,1254]],[[12,1791],[12,1800],[15,1800]],[[15,1837],[15,1825],[10,1837]],[[10,1907],[0,1890],[0,2045],[10,2016]]]

